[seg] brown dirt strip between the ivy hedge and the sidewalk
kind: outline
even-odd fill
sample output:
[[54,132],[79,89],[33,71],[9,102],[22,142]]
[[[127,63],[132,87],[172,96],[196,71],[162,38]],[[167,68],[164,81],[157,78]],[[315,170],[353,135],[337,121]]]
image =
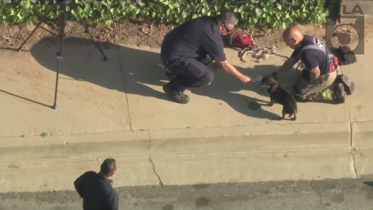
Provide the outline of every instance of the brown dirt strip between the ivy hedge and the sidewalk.
[[[366,38],[371,37],[371,34],[373,34],[371,28],[373,22],[372,20],[373,18],[368,18],[368,20],[366,18]],[[57,28],[47,26],[46,24],[43,24],[43,27],[46,27],[47,29],[54,31],[55,33],[57,32]],[[141,22],[134,23],[130,21],[124,21],[121,23],[115,23],[111,27],[106,27],[102,24],[91,24],[89,25],[89,27],[93,36],[100,41],[125,44],[129,46],[145,45],[150,47],[160,47],[164,35],[175,26],[162,24],[144,24]],[[18,47],[34,28],[34,24],[28,24],[19,27],[16,25],[10,25],[7,22],[0,23],[0,47]],[[323,24],[302,25],[302,28],[304,34],[310,34],[320,38],[325,38],[325,26]],[[78,22],[66,22],[66,35],[75,34],[82,31],[84,31],[84,27]],[[263,28],[253,30],[237,29],[237,31],[244,34],[252,34],[254,36],[255,41],[261,47],[283,44],[281,40],[281,34],[283,31],[282,28],[276,30],[269,30]],[[25,47],[27,48],[29,45],[36,43],[40,38],[43,38],[45,36],[50,36],[50,34],[47,31],[39,28],[36,31],[36,33],[30,38],[30,40],[26,43]],[[79,34],[77,35],[77,37],[89,38],[88,34],[86,33]],[[355,36],[354,38],[354,34],[352,34],[352,39],[356,38],[357,36]]]

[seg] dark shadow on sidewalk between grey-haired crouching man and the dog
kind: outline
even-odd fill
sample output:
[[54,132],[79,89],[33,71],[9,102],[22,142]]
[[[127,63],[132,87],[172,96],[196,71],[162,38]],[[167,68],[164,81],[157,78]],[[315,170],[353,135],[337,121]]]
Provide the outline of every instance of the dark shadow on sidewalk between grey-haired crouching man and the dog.
[[[215,70],[217,64],[212,63],[208,67],[211,70]],[[256,65],[253,68],[235,67],[240,72],[250,76],[251,78],[253,78],[255,75],[264,76],[267,74],[272,74],[272,72],[277,71],[279,68],[279,66],[276,65]],[[281,116],[264,109],[264,107],[270,104],[267,89],[268,87],[260,86],[260,82],[242,84],[236,78],[229,75],[228,72],[219,69],[217,72],[215,72],[214,81],[211,83],[211,85],[207,85],[202,88],[191,88],[190,91],[197,95],[204,95],[210,98],[222,100],[237,112],[250,117],[278,120]],[[249,92],[247,92],[247,90]],[[266,98],[258,98],[254,96],[256,94],[265,96]]]

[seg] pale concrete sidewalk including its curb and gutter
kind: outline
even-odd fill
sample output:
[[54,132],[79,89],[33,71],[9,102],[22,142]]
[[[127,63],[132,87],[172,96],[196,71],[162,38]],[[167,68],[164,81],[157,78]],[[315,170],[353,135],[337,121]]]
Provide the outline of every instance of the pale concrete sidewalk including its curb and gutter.
[[[0,52],[0,192],[73,189],[76,176],[98,170],[107,157],[119,161],[116,186],[373,173],[370,40],[356,64],[342,67],[356,83],[347,102],[299,103],[297,121],[276,120],[280,105],[256,109],[269,101],[266,88],[244,86],[223,71],[210,86],[187,90],[189,104],[170,102],[159,49],[102,44],[109,57],[103,62],[91,41],[79,38],[66,41],[53,110],[55,43],[46,38],[30,52]],[[250,76],[269,74],[285,61],[271,56],[244,63],[236,51],[226,54]],[[296,76],[280,82],[286,86]]]

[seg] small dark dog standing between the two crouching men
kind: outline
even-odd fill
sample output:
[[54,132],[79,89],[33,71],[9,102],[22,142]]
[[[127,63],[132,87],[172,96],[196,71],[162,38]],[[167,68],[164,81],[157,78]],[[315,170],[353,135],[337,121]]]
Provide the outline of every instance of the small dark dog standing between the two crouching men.
[[282,117],[279,120],[285,119],[285,115],[288,114],[289,117],[294,115],[291,120],[297,120],[297,101],[289,91],[283,88],[276,80],[278,80],[278,75],[276,73],[267,75],[260,80],[260,85],[269,86],[268,93],[271,102],[267,106],[273,106],[273,104],[281,104],[282,107]]

